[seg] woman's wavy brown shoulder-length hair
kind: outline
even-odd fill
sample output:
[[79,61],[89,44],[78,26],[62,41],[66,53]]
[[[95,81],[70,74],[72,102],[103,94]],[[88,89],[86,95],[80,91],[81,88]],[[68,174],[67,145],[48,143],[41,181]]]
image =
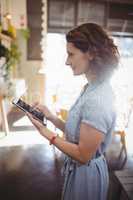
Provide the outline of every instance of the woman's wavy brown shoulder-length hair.
[[119,63],[119,52],[113,39],[106,31],[95,23],[85,23],[72,30],[66,35],[67,42],[82,52],[90,52],[94,56],[90,61],[90,70],[99,78],[108,78]]

